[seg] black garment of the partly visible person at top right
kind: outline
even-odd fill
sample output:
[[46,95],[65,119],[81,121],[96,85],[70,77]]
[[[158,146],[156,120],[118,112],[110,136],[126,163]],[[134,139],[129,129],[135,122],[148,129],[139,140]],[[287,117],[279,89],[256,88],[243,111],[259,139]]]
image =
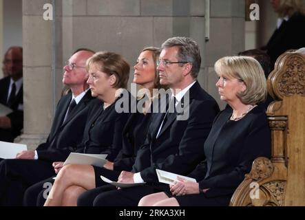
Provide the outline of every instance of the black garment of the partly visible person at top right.
[[305,16],[295,12],[276,29],[265,48],[271,58],[272,69],[277,58],[290,49],[305,47]]

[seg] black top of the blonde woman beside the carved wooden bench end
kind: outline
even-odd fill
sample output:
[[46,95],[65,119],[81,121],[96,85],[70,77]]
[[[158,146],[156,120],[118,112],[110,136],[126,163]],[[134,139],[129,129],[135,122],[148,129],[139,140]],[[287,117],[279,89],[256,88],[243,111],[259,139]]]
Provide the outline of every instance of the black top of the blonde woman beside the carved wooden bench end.
[[222,111],[204,143],[206,159],[189,175],[206,189],[206,197],[233,195],[256,157],[271,156],[271,133],[264,107],[258,106],[238,121],[232,109]]

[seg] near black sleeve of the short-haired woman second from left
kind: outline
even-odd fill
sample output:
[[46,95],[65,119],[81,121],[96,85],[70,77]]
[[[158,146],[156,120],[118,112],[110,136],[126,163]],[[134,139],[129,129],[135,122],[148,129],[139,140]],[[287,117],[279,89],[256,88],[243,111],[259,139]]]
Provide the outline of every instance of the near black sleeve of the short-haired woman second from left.
[[122,133],[128,117],[129,113],[119,113],[117,115],[114,125],[114,137],[112,146],[109,146],[110,152],[106,157],[106,159],[108,159],[110,162],[114,162],[114,159],[116,159],[116,156],[122,149]]

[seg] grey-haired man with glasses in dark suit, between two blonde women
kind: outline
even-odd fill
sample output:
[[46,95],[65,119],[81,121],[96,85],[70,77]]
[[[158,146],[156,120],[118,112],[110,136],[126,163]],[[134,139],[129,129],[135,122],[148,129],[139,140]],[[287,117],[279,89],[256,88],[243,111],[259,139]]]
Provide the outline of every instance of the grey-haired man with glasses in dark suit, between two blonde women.
[[171,89],[171,102],[166,113],[154,113],[132,172],[123,171],[118,177],[122,183],[146,184],[120,190],[103,186],[94,206],[137,206],[141,197],[168,189],[158,182],[156,168],[187,175],[204,158],[204,141],[219,108],[196,80],[200,64],[198,44],[192,39],[174,37],[162,44],[160,84]]

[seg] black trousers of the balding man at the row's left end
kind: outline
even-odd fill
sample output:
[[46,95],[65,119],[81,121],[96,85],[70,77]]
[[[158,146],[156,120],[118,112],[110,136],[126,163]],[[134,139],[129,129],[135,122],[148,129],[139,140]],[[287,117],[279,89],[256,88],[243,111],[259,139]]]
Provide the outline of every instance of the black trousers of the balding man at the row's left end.
[[0,162],[0,206],[21,206],[28,187],[53,175],[52,162],[3,159]]

